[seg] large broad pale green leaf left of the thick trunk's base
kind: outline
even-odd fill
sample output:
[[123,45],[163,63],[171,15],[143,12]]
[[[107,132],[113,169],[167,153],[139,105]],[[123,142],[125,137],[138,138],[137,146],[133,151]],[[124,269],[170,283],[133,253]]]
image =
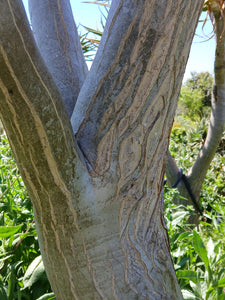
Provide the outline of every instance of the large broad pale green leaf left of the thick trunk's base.
[[23,277],[23,289],[31,287],[38,280],[45,276],[45,268],[42,262],[41,255],[36,257],[29,265],[24,277]]

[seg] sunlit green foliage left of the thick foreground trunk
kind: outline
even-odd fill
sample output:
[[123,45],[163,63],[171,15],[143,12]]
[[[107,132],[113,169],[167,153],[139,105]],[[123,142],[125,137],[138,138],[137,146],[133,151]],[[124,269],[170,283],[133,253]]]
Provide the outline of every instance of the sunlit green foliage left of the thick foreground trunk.
[[55,299],[40,258],[32,206],[0,136],[0,299]]

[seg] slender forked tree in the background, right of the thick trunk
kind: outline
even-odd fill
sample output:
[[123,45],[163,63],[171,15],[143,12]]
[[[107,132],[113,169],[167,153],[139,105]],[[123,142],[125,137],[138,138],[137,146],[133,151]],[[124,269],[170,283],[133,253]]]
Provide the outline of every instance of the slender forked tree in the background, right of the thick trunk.
[[[225,127],[225,30],[224,30],[224,12],[220,10],[218,1],[211,0],[210,12],[216,35],[216,53],[215,53],[215,84],[211,100],[211,117],[205,143],[194,162],[193,166],[187,174],[187,180],[190,185],[190,190],[197,203],[199,203],[200,193],[207,171],[216,153],[217,147],[221,141]],[[170,186],[172,186],[178,176],[179,169],[168,154],[166,159],[166,176]],[[178,184],[178,189],[182,198],[176,200],[184,205],[193,204],[190,194],[182,180]],[[194,205],[196,208],[196,205]],[[199,213],[199,205],[196,212]],[[196,218],[195,218],[196,220]]]

